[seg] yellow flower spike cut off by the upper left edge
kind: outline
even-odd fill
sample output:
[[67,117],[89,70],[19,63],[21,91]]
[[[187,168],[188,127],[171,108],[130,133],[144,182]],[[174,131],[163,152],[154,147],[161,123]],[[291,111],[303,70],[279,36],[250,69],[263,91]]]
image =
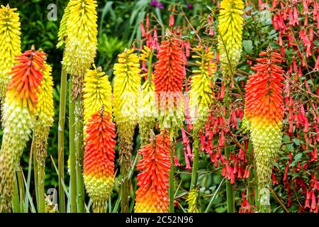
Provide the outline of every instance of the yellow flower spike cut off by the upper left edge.
[[21,54],[21,28],[16,8],[9,5],[0,9],[0,99],[4,101],[9,72],[14,65],[15,55]]

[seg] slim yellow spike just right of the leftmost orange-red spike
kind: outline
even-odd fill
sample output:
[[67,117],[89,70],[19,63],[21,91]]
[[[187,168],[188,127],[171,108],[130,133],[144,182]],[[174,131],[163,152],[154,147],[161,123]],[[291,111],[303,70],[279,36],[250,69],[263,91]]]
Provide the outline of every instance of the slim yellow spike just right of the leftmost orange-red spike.
[[44,165],[47,156],[47,137],[55,115],[53,105],[53,81],[52,67],[45,63],[43,72],[43,81],[41,82],[40,92],[38,94],[38,105],[35,113],[34,141],[35,157],[40,165]]

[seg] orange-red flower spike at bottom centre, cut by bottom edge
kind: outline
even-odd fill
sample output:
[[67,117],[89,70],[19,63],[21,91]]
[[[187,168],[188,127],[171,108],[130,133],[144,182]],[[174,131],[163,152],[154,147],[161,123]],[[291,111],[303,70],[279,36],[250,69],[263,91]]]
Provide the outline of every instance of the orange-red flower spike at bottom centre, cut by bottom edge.
[[161,131],[138,151],[142,159],[136,166],[138,174],[135,199],[136,213],[167,213],[169,209],[169,170],[171,141],[167,131]]

